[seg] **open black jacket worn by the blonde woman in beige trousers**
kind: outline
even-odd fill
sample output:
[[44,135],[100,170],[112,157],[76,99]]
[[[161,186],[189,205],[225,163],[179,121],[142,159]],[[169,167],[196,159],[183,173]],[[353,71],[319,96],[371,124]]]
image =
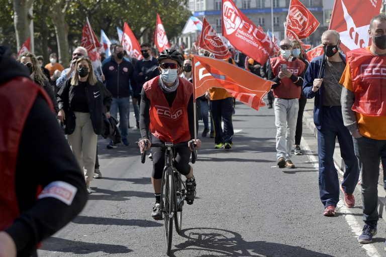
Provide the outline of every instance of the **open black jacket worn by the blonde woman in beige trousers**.
[[[74,86],[71,85],[71,78],[69,78],[57,94],[59,109],[63,109],[65,113],[65,134],[72,134],[75,129],[75,115],[70,109],[71,100],[74,96],[73,88]],[[96,82],[93,86],[87,85],[85,90],[92,128],[96,135],[101,135],[103,114],[110,111],[110,105],[113,100],[111,93],[100,81]]]

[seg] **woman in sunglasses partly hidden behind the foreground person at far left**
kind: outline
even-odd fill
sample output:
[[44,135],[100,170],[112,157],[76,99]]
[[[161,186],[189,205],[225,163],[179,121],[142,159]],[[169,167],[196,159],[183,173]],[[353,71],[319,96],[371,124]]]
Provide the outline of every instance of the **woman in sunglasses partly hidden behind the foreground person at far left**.
[[36,84],[44,88],[44,90],[47,92],[48,96],[52,100],[52,103],[54,104],[55,113],[57,113],[59,108],[54,90],[47,77],[44,75],[36,56],[33,53],[25,52],[19,56],[18,62],[24,64],[26,68],[30,71],[30,78]]

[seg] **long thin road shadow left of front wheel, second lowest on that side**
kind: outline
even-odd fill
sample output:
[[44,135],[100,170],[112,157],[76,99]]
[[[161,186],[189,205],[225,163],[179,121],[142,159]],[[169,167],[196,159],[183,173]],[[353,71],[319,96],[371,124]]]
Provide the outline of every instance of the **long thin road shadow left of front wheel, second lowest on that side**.
[[139,227],[160,227],[163,223],[143,220],[143,219],[119,219],[106,217],[76,216],[73,223],[76,224],[95,224],[95,225],[119,225],[119,226],[139,226]]

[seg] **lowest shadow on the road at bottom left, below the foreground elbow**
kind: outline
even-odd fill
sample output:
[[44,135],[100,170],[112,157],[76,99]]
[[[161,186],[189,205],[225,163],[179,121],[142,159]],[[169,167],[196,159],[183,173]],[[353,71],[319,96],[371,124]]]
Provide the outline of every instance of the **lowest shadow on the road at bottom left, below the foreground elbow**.
[[74,254],[89,254],[99,251],[109,254],[118,254],[133,251],[123,245],[73,241],[53,236],[43,242],[40,250],[71,252]]

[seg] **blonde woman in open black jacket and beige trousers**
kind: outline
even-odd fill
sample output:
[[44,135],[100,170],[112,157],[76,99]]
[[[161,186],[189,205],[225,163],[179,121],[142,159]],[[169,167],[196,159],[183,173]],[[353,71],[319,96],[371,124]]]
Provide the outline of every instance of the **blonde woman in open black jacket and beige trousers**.
[[94,75],[89,57],[80,57],[75,63],[75,73],[58,94],[58,118],[72,153],[84,171],[87,192],[95,167],[96,144],[102,133],[103,115],[110,118],[111,93]]

